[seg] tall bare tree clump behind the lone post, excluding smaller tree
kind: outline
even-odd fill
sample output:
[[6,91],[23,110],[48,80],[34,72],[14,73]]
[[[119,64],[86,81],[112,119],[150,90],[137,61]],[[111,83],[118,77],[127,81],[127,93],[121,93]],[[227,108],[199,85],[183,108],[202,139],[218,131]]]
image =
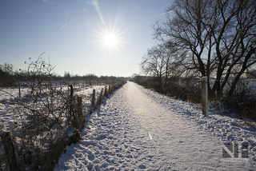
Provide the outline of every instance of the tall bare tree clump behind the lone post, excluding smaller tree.
[[175,0],[166,22],[154,25],[154,38],[188,50],[186,69],[214,77],[209,89],[218,97],[234,77],[232,95],[239,78],[256,62],[255,10],[253,0]]

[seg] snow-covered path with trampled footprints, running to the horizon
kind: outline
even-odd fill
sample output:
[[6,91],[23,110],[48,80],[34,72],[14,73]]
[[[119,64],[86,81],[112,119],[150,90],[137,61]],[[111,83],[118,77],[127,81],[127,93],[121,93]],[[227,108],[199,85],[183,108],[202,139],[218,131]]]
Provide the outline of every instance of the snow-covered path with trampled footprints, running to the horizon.
[[[58,170],[255,170],[255,129],[128,82],[87,119]],[[248,142],[247,163],[222,163],[222,142]]]

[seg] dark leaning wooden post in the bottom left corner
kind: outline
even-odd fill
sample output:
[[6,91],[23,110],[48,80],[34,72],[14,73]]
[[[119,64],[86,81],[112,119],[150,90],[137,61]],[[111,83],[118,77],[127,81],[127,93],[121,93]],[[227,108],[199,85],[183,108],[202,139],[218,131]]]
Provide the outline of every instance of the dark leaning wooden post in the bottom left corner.
[[14,142],[12,141],[11,133],[2,133],[1,138],[3,148],[5,149],[6,153],[7,165],[9,165],[10,170],[25,170],[22,166],[21,161],[19,160],[18,154],[14,146]]

